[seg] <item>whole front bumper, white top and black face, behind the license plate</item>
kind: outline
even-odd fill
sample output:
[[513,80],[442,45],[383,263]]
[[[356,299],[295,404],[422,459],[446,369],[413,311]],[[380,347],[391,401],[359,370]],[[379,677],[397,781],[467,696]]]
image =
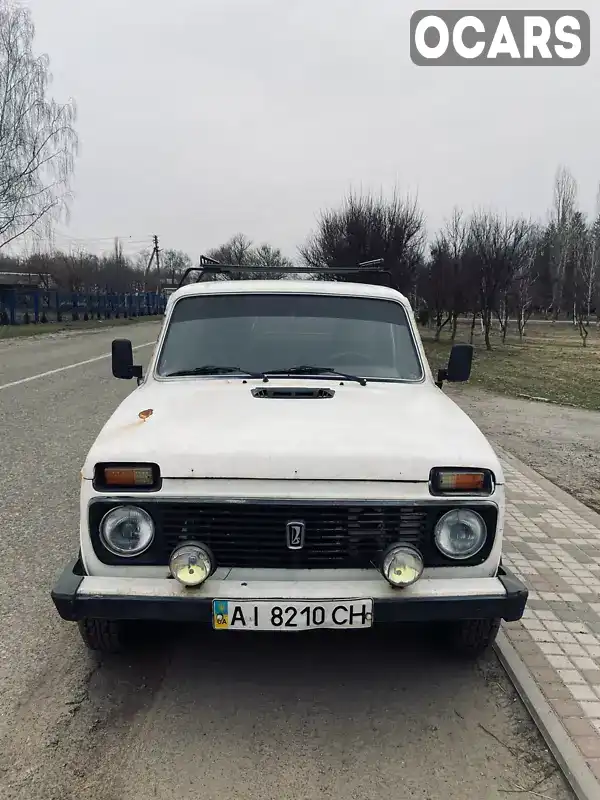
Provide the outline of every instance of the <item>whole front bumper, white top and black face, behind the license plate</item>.
[[81,560],[65,568],[51,593],[60,616],[199,622],[212,625],[212,601],[373,599],[379,623],[460,619],[521,619],[528,591],[500,568],[495,578],[421,578],[393,589],[372,570],[224,570],[202,586],[186,589],[170,578],[96,578],[84,575]]

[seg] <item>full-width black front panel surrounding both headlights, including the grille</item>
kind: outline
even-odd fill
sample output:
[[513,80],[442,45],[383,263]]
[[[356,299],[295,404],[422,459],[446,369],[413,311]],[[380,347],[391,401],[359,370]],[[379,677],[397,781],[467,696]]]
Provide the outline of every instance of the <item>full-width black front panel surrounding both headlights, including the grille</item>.
[[[415,545],[426,566],[456,566],[437,550],[432,535],[436,521],[456,503],[412,506],[349,501],[163,502],[140,496],[139,500],[128,502],[152,516],[156,536],[151,547],[132,561],[110,553],[100,539],[102,517],[122,502],[114,498],[90,504],[92,544],[105,564],[166,566],[178,544],[196,540],[211,548],[219,567],[368,569],[377,566],[383,551],[396,542]],[[485,520],[488,541],[480,553],[460,562],[460,566],[483,563],[495,539],[496,506],[477,503],[473,507]],[[289,522],[305,525],[301,550],[287,546]]]

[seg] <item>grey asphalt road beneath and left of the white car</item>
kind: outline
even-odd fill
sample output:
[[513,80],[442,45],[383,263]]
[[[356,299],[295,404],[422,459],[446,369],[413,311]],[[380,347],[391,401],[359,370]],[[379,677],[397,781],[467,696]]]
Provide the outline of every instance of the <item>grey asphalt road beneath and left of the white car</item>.
[[[141,362],[157,334],[127,329]],[[0,798],[572,798],[495,657],[458,662],[425,628],[150,626],[127,656],[85,650],[49,591],[86,451],[135,388],[100,358],[113,335],[0,342]]]

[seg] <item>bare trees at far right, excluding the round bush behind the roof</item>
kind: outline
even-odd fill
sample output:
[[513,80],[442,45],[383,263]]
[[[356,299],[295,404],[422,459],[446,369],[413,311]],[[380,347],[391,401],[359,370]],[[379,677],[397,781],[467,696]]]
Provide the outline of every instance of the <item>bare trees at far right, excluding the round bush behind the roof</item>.
[[573,176],[561,168],[545,225],[485,211],[467,217],[456,209],[416,280],[436,338],[446,326],[454,338],[457,320],[468,315],[472,332],[480,319],[490,349],[494,322],[504,340],[514,320],[522,338],[536,314],[570,319],[585,346],[600,299],[600,194],[588,219]]

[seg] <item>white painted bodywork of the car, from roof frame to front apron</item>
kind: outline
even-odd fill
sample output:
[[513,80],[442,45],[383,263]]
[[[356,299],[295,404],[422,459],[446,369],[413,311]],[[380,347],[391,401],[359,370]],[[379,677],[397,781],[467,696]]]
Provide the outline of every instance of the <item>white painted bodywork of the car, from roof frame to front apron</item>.
[[[254,398],[251,389],[264,386],[260,380],[222,376],[165,379],[155,374],[178,300],[196,294],[247,292],[336,294],[398,302],[412,327],[423,379],[412,383],[372,381],[366,386],[348,381],[340,385],[339,378],[319,380],[320,386],[335,389],[335,397],[303,402]],[[314,381],[294,378],[293,384],[314,386]],[[289,386],[290,381],[270,378],[268,385]],[[146,409],[151,409],[152,414],[143,420],[139,414]],[[147,591],[162,596],[161,593],[180,591],[174,581],[166,580],[165,567],[136,566],[135,559],[123,566],[103,564],[90,541],[89,503],[110,496],[99,494],[92,486],[95,464],[138,461],[158,463],[164,478],[160,491],[146,495],[146,500],[297,498],[447,504],[447,498],[433,498],[429,492],[433,467],[490,469],[496,486],[486,499],[497,505],[499,514],[495,544],[488,559],[478,566],[426,569],[415,587],[404,591],[417,592],[419,596],[435,596],[442,590],[445,596],[502,595],[505,591],[494,578],[504,529],[502,468],[476,425],[435,386],[411,306],[394,290],[369,284],[286,280],[215,281],[174,292],[168,299],[165,322],[142,384],[107,421],[83,466],[81,553],[86,573],[95,577],[84,579],[82,592],[89,589],[102,595],[105,587],[107,595],[118,590],[119,594]],[[127,502],[135,500],[135,496],[120,495],[119,499]],[[474,503],[480,501],[471,499]],[[210,593],[218,583],[219,592],[231,592],[235,580],[250,580],[255,598],[275,596],[273,591],[280,596],[285,587],[294,596],[308,598],[318,594],[315,585],[319,582],[321,592],[323,582],[331,583],[331,596],[336,598],[356,592],[357,582],[362,582],[363,590],[369,584],[371,597],[384,597],[395,591],[376,569],[306,570],[292,574],[296,572],[249,570],[246,574],[241,570],[218,570],[204,587],[194,591]],[[138,580],[131,583],[134,577]],[[299,586],[305,586],[304,590]]]

